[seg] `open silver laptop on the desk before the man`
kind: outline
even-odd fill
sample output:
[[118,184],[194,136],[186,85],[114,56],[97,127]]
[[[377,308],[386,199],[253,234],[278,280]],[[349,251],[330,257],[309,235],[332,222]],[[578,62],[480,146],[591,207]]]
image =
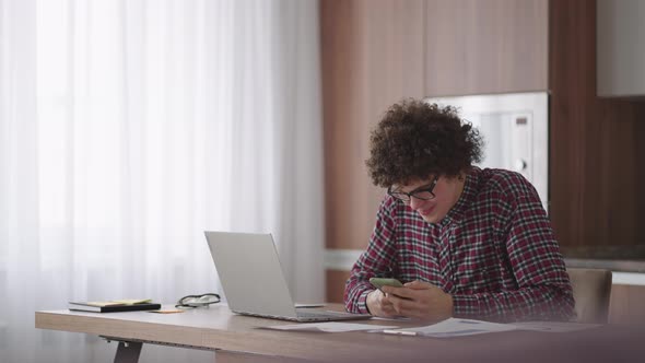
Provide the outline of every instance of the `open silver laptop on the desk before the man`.
[[296,308],[270,234],[209,231],[204,234],[232,312],[294,321],[371,317]]

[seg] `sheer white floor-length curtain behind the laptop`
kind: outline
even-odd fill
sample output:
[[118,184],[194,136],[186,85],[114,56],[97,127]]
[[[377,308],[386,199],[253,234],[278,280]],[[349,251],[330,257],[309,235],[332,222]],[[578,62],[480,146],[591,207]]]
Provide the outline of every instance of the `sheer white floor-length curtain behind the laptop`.
[[219,292],[204,230],[322,301],[320,103],[317,1],[0,0],[0,362],[112,361],[36,311]]

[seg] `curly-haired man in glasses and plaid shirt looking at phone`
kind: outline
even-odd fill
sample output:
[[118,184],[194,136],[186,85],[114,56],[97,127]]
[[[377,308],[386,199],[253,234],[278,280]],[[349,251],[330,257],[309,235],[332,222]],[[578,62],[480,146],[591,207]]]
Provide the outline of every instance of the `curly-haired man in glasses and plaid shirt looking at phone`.
[[[453,107],[406,101],[371,138],[366,164],[387,188],[345,307],[439,320],[568,320],[574,300],[551,223],[520,174],[480,169],[482,140]],[[376,290],[370,278],[403,288]]]

